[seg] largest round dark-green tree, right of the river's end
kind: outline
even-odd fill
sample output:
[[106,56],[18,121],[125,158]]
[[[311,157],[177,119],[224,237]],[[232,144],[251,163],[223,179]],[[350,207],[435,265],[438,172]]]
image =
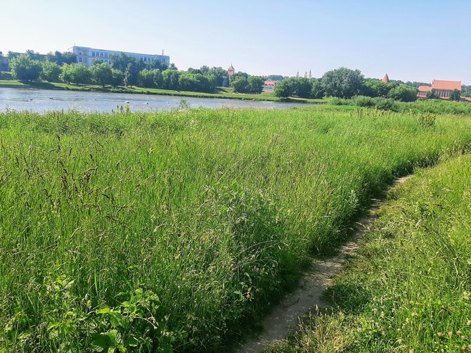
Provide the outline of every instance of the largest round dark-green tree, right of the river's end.
[[322,77],[325,94],[339,98],[351,98],[361,91],[363,75],[360,70],[338,68],[325,72]]

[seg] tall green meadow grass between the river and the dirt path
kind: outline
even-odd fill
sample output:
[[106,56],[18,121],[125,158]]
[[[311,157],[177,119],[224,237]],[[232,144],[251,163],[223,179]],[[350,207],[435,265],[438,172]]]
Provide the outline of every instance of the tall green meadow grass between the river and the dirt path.
[[217,352],[470,117],[0,113],[0,350]]

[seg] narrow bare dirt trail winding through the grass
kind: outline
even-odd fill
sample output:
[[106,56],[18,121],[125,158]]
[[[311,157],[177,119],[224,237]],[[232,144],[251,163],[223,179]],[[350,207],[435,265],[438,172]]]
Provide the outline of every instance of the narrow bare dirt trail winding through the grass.
[[[410,179],[413,174],[396,179],[392,186],[389,186],[387,192],[392,188],[403,184]],[[270,316],[264,319],[264,331],[257,337],[247,340],[236,350],[238,353],[254,353],[269,347],[277,340],[285,338],[290,330],[295,328],[299,322],[299,316],[307,314],[310,309],[328,307],[328,303],[321,299],[324,291],[332,285],[332,277],[337,274],[344,266],[348,257],[354,255],[358,249],[358,241],[368,230],[371,222],[376,217],[376,212],[384,200],[373,200],[374,203],[368,214],[363,219],[354,224],[354,236],[351,240],[342,245],[339,252],[334,257],[328,259],[314,260],[314,264],[300,281],[299,288],[294,293],[285,297],[278,307],[276,307]]]

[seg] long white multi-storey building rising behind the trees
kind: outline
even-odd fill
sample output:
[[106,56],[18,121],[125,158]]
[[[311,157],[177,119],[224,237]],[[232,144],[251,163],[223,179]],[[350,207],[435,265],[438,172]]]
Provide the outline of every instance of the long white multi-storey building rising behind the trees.
[[170,57],[166,55],[129,53],[127,51],[94,49],[86,46],[72,46],[72,52],[77,56],[77,63],[85,66],[92,66],[93,60],[95,59],[100,59],[103,63],[110,63],[110,58],[113,54],[120,55],[121,53],[124,53],[127,56],[133,56],[136,59],[141,58],[144,63],[159,60],[161,63],[167,65],[167,67],[170,65]]

